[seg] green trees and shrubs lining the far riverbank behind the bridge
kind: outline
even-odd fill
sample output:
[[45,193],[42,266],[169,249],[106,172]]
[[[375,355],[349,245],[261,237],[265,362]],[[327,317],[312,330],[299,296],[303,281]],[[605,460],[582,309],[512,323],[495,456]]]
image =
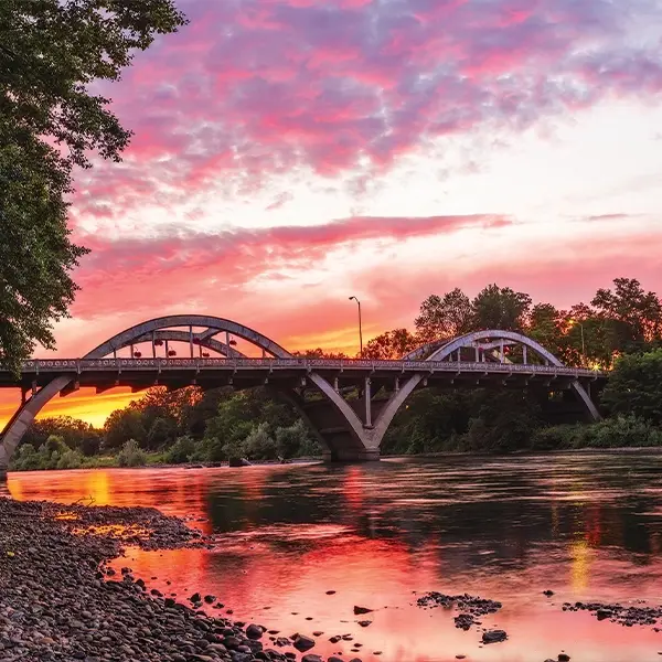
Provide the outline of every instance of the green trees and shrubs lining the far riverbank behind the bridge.
[[[662,446],[662,305],[637,280],[616,279],[613,289],[600,289],[590,305],[569,311],[495,285],[474,299],[458,289],[431,296],[414,331],[383,333],[363,355],[398,357],[424,342],[485,328],[521,331],[568,365],[611,370],[600,402],[606,419],[554,426],[535,392],[430,387],[415,392],[394,418],[383,453]],[[38,420],[12,468],[277,460],[321,450],[289,402],[266,387],[152,388],[114,412],[103,430],[66,417]]]

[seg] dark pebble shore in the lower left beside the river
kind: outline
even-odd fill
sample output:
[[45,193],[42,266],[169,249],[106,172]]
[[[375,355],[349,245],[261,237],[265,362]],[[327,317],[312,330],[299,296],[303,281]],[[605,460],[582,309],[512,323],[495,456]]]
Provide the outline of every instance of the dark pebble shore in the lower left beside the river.
[[209,544],[181,520],[153,509],[0,498],[0,659],[250,662],[302,653],[303,662],[321,662],[308,652],[312,638],[277,638],[259,623],[210,617],[197,600],[178,604],[150,591],[129,568],[115,575],[106,566],[126,545]]

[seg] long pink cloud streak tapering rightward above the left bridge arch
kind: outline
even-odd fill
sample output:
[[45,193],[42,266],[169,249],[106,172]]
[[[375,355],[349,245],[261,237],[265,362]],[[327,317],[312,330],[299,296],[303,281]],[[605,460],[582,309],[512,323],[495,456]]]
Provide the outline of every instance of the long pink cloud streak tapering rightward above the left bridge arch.
[[[258,276],[282,278],[314,267],[332,249],[361,243],[438,237],[462,228],[498,228],[499,215],[352,217],[319,226],[235,228],[214,235],[172,228],[157,238],[110,242],[79,237],[92,248],[76,273],[81,285],[73,313],[90,319],[125,310],[171,310],[191,302],[213,303],[221,292],[238,291]],[[287,280],[287,277],[285,278]]]

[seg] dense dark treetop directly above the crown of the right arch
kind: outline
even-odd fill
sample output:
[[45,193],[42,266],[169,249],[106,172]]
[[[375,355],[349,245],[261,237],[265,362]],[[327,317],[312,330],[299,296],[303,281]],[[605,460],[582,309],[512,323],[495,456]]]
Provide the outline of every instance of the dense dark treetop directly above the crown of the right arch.
[[488,285],[473,299],[473,327],[521,331],[526,327],[531,303],[531,297],[524,292]]

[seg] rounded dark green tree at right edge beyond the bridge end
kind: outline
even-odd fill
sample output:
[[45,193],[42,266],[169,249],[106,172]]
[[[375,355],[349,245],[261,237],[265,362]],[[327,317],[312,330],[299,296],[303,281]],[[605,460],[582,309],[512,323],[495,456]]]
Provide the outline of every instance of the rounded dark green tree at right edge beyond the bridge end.
[[613,415],[662,425],[662,349],[618,359],[600,399]]

